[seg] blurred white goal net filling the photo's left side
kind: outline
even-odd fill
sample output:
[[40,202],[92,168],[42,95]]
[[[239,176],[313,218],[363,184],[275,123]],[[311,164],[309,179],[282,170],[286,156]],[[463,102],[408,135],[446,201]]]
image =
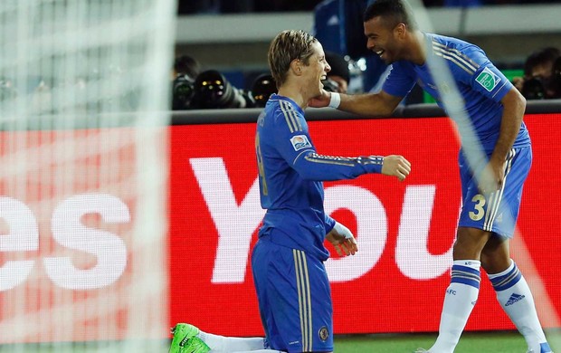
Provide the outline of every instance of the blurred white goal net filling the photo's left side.
[[166,349],[175,20],[175,0],[0,2],[3,351]]

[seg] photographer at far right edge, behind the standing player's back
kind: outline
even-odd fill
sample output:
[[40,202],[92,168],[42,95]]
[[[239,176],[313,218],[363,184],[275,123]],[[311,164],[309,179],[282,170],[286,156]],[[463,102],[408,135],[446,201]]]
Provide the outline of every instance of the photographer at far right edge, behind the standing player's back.
[[559,56],[559,49],[555,47],[543,48],[528,56],[524,63],[524,77],[516,77],[512,81],[527,100],[559,98],[553,80],[554,63]]

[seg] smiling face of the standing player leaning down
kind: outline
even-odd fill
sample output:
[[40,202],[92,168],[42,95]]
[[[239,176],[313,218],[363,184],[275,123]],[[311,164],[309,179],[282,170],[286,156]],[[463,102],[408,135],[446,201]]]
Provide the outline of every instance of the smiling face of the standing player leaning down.
[[404,59],[404,24],[391,25],[382,16],[364,23],[366,47],[390,64]]

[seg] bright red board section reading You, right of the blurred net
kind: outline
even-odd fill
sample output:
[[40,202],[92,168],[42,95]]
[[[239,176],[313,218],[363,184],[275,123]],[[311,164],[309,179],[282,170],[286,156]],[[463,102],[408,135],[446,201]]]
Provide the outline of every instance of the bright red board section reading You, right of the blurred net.
[[[561,115],[525,121],[534,161],[511,252],[544,326],[552,327],[561,314],[561,279],[551,266],[561,253],[555,167]],[[252,123],[171,128],[170,324],[262,335],[249,261],[263,215],[254,129]],[[332,251],[326,263],[335,333],[436,331],[461,204],[459,143],[450,119],[311,121],[309,130],[321,154],[400,154],[413,165],[403,183],[380,175],[325,183],[327,211],[356,234],[359,246],[356,256],[344,259]],[[466,329],[514,329],[482,277]]]

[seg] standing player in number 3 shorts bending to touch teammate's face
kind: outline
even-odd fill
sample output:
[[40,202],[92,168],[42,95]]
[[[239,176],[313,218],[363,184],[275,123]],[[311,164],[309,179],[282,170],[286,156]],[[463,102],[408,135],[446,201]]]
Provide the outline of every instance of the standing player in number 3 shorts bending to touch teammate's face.
[[[444,298],[439,336],[429,351],[452,352],[456,347],[477,301],[483,267],[500,306],[526,339],[528,351],[550,352],[528,284],[509,255],[509,239],[532,160],[528,130],[522,121],[526,100],[479,47],[421,32],[404,0],[378,0],[368,6],[364,29],[368,49],[393,66],[382,91],[362,95],[323,91],[311,105],[388,115],[418,82],[463,132],[471,132],[461,134],[462,208],[452,252],[452,279]],[[428,63],[439,60],[454,82],[437,85]],[[443,103],[453,84],[461,94],[465,115]],[[482,158],[474,160],[481,152]]]

